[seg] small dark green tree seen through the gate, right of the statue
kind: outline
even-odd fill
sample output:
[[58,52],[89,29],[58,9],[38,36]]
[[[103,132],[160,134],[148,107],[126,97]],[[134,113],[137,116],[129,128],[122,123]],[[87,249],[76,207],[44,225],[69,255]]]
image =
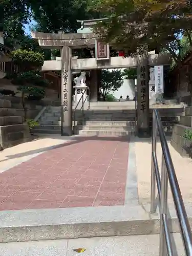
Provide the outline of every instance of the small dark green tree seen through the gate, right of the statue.
[[103,100],[110,92],[117,91],[123,84],[123,73],[121,70],[105,70],[101,71],[100,95]]

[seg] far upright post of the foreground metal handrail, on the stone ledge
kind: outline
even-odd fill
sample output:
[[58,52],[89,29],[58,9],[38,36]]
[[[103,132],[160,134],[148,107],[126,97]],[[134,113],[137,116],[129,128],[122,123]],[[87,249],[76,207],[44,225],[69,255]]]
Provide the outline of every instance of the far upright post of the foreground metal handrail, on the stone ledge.
[[155,166],[153,161],[153,153],[157,152],[157,122],[155,118],[155,112],[153,112],[153,124],[152,124],[152,166],[151,166],[151,213],[153,214],[156,211],[155,207],[155,187],[156,187],[156,178],[155,178]]

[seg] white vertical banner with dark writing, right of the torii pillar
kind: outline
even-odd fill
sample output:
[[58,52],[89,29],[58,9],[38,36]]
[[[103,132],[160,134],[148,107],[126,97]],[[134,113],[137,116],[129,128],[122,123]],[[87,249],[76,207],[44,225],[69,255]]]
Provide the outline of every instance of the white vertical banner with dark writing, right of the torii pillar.
[[155,93],[163,94],[163,92],[164,92],[163,66],[155,66]]

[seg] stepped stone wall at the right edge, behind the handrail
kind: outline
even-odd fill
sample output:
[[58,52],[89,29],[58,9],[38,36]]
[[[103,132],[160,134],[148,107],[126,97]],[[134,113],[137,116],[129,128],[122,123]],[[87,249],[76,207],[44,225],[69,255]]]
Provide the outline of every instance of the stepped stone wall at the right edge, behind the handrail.
[[181,116],[179,123],[174,125],[172,140],[170,141],[172,146],[182,157],[189,157],[185,146],[192,144],[192,141],[187,141],[183,137],[185,130],[192,132],[192,106],[185,108],[185,115]]

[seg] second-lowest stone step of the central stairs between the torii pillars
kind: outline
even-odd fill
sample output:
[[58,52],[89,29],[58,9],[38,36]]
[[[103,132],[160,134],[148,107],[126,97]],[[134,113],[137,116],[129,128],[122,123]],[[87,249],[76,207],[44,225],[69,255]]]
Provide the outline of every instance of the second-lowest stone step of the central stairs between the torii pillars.
[[135,131],[135,126],[83,125],[82,130],[91,130],[91,131]]

